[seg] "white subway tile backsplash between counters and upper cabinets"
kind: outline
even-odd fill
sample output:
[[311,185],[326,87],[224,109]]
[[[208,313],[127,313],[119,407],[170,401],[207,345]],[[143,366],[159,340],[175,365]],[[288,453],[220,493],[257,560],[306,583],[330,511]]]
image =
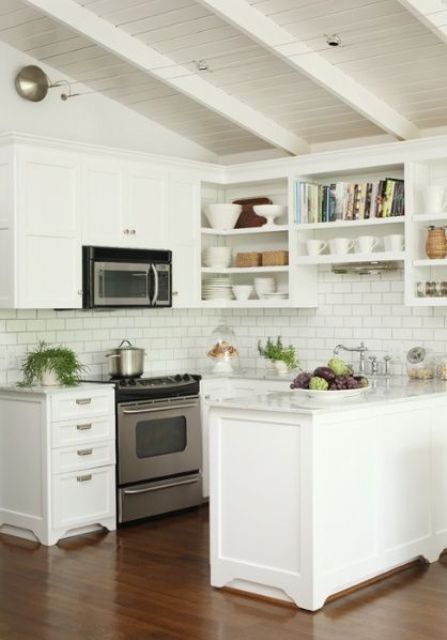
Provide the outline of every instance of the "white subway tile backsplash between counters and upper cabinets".
[[304,368],[325,362],[340,342],[364,340],[379,360],[390,354],[394,373],[404,373],[405,353],[415,345],[447,353],[447,308],[404,306],[402,272],[323,269],[317,309],[0,310],[0,382],[21,379],[23,356],[40,340],[73,348],[91,375],[106,372],[105,353],[123,338],[146,349],[148,373],[204,371],[220,318],[233,327],[241,365],[249,368],[265,366],[257,341],[277,335],[295,345]]

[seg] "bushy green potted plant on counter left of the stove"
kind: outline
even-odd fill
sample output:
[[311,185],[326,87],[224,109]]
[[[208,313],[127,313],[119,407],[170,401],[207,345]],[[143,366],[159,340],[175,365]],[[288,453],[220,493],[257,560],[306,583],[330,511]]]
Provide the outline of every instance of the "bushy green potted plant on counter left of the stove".
[[43,386],[79,384],[79,377],[85,367],[75,352],[67,347],[52,347],[39,342],[37,349],[29,351],[22,365],[23,386],[37,382]]

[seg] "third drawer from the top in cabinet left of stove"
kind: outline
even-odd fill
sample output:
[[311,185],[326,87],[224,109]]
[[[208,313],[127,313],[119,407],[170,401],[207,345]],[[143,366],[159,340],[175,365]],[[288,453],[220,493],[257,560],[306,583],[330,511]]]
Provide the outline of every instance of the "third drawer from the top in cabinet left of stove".
[[91,467],[115,464],[115,442],[82,443],[75,447],[53,449],[51,452],[52,472],[67,473]]

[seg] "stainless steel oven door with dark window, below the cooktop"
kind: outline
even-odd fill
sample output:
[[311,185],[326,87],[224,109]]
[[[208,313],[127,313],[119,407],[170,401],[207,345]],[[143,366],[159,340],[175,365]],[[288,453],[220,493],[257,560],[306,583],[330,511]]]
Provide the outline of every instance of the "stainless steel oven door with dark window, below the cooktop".
[[120,485],[197,471],[201,463],[197,397],[118,405]]

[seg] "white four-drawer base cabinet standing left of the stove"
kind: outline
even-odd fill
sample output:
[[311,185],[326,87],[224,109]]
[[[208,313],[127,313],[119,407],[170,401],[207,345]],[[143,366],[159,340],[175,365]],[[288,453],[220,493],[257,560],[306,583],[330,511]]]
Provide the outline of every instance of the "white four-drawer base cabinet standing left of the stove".
[[0,390],[0,531],[44,545],[116,528],[110,386]]

